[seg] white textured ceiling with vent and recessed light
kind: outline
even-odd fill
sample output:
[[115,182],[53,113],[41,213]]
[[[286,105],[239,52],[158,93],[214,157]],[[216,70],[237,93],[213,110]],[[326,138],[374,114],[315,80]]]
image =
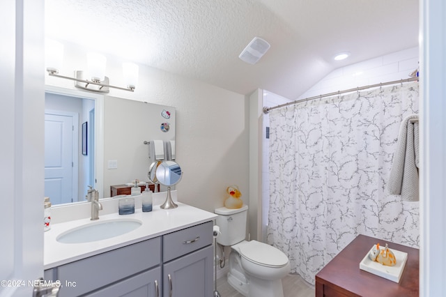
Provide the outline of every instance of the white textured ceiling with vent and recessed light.
[[[418,0],[45,0],[49,38],[237,93],[297,98],[330,71],[418,44]],[[259,36],[270,50],[238,59]],[[333,61],[338,52],[346,61]]]

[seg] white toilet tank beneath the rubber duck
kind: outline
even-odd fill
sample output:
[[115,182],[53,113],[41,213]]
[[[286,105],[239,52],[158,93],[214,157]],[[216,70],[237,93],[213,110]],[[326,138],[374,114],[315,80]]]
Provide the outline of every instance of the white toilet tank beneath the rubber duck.
[[247,210],[247,205],[236,209],[226,207],[215,209],[214,212],[218,215],[216,223],[221,232],[217,236],[217,243],[230,246],[245,240]]

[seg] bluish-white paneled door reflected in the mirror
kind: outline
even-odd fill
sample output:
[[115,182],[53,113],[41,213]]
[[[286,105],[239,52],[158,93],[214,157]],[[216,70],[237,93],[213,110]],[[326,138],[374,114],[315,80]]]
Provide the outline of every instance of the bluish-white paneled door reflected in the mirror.
[[74,121],[70,114],[45,113],[45,197],[52,204],[73,201]]

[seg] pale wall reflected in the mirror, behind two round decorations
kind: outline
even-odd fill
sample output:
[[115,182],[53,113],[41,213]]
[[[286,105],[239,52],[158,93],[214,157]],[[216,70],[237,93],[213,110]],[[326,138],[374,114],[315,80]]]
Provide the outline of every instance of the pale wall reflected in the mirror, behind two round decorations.
[[[170,118],[161,116],[162,110]],[[161,123],[168,122],[168,132],[162,132]],[[135,179],[148,182],[147,172],[153,160],[148,159],[145,141],[175,140],[176,111],[174,107],[105,96],[104,99],[104,178],[103,197],[110,197],[111,185],[130,183]],[[109,160],[116,160],[118,167],[109,169]],[[164,187],[161,186],[161,189]],[[165,188],[164,188],[165,189]],[[165,191],[165,190],[164,190]]]

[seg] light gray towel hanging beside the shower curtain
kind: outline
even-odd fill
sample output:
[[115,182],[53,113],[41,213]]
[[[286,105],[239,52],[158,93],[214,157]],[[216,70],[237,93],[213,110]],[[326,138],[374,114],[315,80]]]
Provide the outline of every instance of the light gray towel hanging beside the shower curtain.
[[418,201],[418,122],[411,123],[411,119],[418,119],[418,115],[411,114],[401,123],[387,190],[391,195],[401,195],[402,200]]

